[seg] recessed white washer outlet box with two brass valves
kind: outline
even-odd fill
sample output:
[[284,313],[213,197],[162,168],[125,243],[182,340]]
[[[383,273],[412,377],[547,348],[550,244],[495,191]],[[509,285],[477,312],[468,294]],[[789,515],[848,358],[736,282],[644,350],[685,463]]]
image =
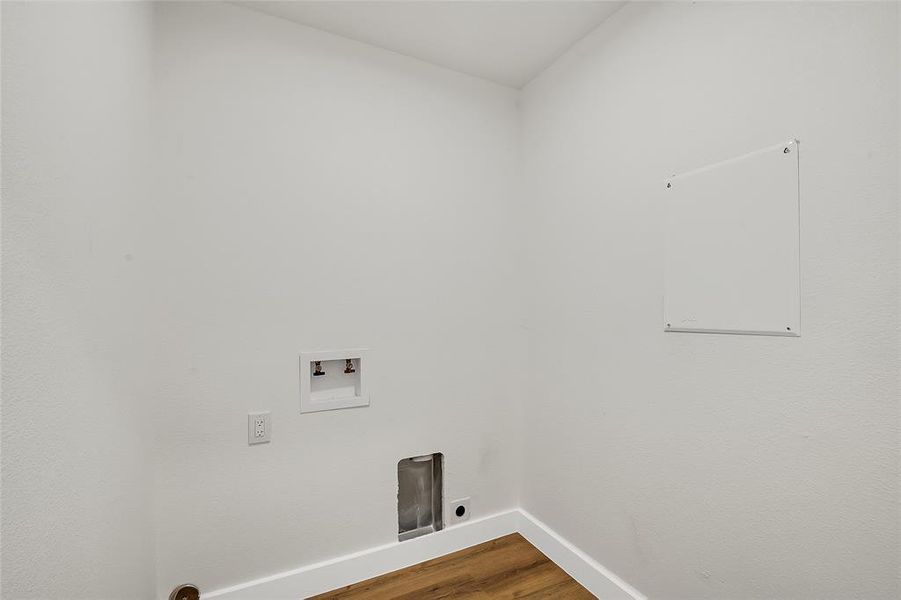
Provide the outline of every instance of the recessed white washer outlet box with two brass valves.
[[300,355],[300,412],[369,406],[368,351],[329,350]]

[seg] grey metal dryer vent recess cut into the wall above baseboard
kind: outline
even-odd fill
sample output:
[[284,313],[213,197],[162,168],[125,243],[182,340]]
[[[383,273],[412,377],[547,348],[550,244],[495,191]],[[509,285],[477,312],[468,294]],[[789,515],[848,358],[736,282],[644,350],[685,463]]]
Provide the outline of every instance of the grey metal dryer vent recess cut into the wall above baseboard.
[[397,463],[397,538],[409,540],[444,528],[444,455],[440,452]]

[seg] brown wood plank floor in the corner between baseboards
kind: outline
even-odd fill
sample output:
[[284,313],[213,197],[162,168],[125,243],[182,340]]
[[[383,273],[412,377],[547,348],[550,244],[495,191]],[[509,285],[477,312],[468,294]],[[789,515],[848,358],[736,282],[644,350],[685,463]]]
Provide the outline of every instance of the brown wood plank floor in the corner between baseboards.
[[314,596],[311,600],[437,600],[594,596],[518,533],[400,571]]

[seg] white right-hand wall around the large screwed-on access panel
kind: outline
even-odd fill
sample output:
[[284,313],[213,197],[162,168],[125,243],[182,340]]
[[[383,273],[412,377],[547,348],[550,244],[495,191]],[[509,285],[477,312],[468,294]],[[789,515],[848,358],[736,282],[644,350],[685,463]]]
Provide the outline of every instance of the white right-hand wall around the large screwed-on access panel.
[[[630,3],[525,89],[523,507],[652,598],[901,591],[896,10]],[[663,178],[792,136],[803,336],[665,334]]]

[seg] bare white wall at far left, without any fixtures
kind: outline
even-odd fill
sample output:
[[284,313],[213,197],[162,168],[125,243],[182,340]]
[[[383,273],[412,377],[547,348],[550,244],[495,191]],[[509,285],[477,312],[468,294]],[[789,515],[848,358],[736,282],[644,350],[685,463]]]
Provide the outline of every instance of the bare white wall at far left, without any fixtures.
[[2,5],[2,591],[150,598],[151,11]]

